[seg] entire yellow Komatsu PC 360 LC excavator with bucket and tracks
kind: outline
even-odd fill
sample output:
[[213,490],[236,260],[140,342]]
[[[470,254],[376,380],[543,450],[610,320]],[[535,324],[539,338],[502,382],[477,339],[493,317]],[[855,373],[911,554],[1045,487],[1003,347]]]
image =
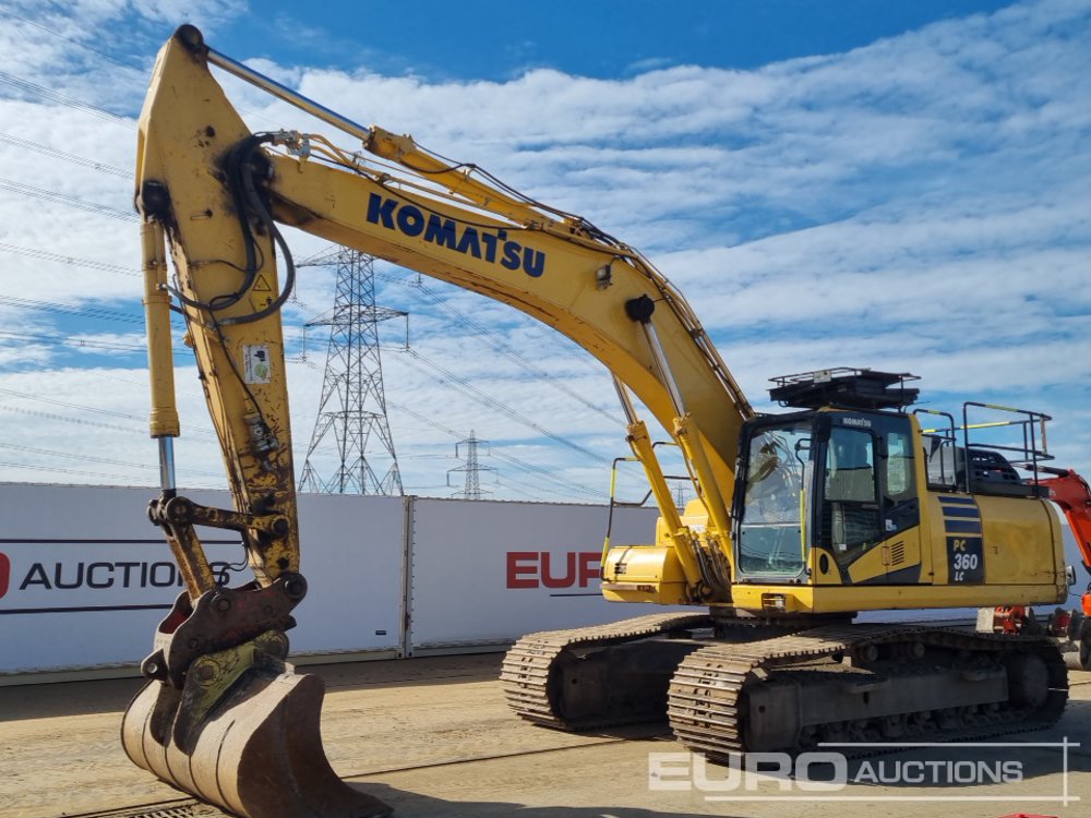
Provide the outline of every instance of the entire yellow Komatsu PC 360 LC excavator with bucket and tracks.
[[[252,133],[213,65],[361,149]],[[319,731],[322,683],[285,661],[307,584],[279,316],[295,270],[279,225],[509,304],[614,376],[661,518],[655,543],[606,550],[603,593],[697,610],[523,638],[503,665],[523,717],[584,729],[669,715],[683,744],[715,759],[819,741],[983,736],[1060,714],[1057,640],[1027,612],[1068,593],[1048,492],[1089,570],[1091,513],[1087,484],[1042,462],[1044,416],[975,422],[970,413],[992,410],[982,405],[960,421],[911,412],[912,376],[870,370],[780,378],[772,397],[792,411],[756,414],[690,305],[638,252],[476,165],[323,108],[213,50],[192,26],[159,53],[137,147],[161,479],[148,513],[185,590],[124,715],[135,763],[249,818],[389,813],[334,773]],[[176,488],[171,310],[185,320],[230,510]],[[697,493],[683,514],[639,404],[681,448]],[[1023,443],[970,440],[997,423]],[[197,526],[240,534],[251,584],[217,585]],[[1000,605],[1003,633],[853,623],[865,611]]]

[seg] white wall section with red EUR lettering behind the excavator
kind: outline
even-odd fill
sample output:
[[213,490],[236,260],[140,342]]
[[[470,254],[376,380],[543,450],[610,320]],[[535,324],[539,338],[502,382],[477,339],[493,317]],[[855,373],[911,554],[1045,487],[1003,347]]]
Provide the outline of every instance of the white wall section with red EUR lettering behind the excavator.
[[[603,506],[415,498],[409,649],[505,642],[663,610],[607,602],[599,593],[607,513]],[[647,508],[616,509],[611,541],[650,542],[656,517]]]

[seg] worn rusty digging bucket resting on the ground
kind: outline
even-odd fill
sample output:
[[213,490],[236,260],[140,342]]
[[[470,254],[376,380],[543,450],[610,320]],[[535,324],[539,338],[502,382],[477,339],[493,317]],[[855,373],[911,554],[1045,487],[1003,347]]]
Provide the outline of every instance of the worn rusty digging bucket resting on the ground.
[[[141,689],[121,726],[133,763],[243,818],[388,816],[391,807],[346,784],[326,759],[322,679],[281,662],[251,665],[231,681],[231,654],[191,669],[181,690],[154,679]],[[200,688],[217,671],[229,689],[205,711]]]

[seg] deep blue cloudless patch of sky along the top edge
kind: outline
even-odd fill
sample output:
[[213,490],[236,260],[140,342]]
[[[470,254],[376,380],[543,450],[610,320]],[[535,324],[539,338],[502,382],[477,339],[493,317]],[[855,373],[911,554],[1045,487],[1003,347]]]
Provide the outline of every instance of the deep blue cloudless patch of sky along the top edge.
[[[228,21],[232,48],[278,62],[360,67],[429,80],[517,77],[551,68],[610,79],[694,64],[754,69],[836,53],[937,20],[995,11],[980,0],[683,0],[662,2],[292,3]],[[264,11],[267,10],[267,11]]]

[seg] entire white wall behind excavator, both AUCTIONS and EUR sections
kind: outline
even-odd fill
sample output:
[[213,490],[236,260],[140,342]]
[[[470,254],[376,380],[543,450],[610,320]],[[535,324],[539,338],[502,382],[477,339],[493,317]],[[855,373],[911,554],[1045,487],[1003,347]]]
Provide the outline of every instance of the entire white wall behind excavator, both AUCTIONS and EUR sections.
[[[155,494],[0,484],[0,674],[134,665],[151,651],[156,625],[182,590],[145,515]],[[230,507],[226,492],[187,494]],[[601,506],[301,495],[308,594],[289,633],[292,653],[408,654],[635,615],[596,591],[606,514]],[[655,517],[622,509],[615,541],[647,541]],[[233,534],[200,533],[224,581],[251,578]],[[571,581],[570,560],[578,561]]]

